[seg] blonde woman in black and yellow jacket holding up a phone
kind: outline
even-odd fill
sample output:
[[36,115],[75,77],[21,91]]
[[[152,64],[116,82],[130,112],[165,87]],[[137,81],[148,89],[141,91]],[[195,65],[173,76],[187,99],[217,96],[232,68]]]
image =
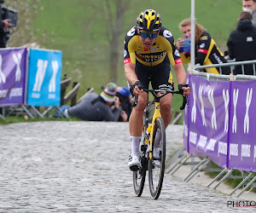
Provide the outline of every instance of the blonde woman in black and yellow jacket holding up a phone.
[[[191,37],[191,20],[185,19],[179,24],[181,32],[183,32],[184,38]],[[183,38],[177,39],[177,50],[180,51],[181,46],[184,44]],[[190,52],[181,53],[181,59],[183,64],[189,63]],[[217,44],[206,31],[206,29],[195,22],[195,64],[203,65],[212,65],[212,64],[223,64],[227,60],[224,59],[224,55],[218,49]],[[211,69],[204,70],[204,72],[219,74],[219,67],[212,67]],[[230,68],[223,66],[221,68],[222,74],[230,74]]]

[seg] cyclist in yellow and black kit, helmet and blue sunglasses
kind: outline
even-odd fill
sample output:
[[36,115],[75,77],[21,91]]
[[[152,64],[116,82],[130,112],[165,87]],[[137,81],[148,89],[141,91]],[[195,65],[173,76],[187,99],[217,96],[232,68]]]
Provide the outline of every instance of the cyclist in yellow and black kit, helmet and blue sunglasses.
[[[146,9],[138,15],[136,26],[127,32],[124,43],[125,78],[131,94],[139,95],[137,107],[132,109],[129,120],[131,156],[128,166],[131,170],[137,170],[140,165],[143,110],[148,101],[148,93],[143,92],[143,88],[148,89],[151,82],[153,89],[173,89],[170,64],[176,72],[177,83],[186,82],[186,72],[172,33],[162,26],[160,14],[154,9]],[[190,88],[183,86],[183,91],[189,95]],[[172,94],[161,98],[160,112],[167,127],[172,118]]]

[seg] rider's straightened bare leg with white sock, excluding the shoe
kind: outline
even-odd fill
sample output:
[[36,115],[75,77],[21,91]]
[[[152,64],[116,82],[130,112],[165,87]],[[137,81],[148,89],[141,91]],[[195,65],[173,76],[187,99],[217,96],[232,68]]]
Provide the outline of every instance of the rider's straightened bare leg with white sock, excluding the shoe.
[[147,105],[148,94],[143,92],[139,96],[137,101],[137,107],[134,107],[131,112],[131,117],[129,119],[130,125],[130,135],[131,135],[131,156],[139,156],[139,145],[140,139],[143,132],[143,112]]

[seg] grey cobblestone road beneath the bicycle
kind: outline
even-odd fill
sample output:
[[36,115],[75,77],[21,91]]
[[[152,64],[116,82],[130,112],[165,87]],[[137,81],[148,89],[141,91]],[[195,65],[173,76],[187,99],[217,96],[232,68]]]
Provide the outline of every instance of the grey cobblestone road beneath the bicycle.
[[[167,129],[168,153],[182,126]],[[179,141],[178,141],[179,140]],[[240,201],[166,174],[160,198],[146,181],[134,196],[128,123],[40,122],[0,126],[0,212],[253,212]],[[170,147],[172,141],[172,147]]]

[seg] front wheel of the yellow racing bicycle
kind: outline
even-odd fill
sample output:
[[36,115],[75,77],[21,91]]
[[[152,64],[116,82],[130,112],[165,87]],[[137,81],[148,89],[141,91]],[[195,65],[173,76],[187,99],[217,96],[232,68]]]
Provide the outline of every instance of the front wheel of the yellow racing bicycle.
[[160,154],[159,158],[153,157],[148,160],[148,184],[152,199],[158,199],[160,196],[166,166],[166,127],[163,118],[156,118],[154,123],[153,149],[156,130],[160,133]]

